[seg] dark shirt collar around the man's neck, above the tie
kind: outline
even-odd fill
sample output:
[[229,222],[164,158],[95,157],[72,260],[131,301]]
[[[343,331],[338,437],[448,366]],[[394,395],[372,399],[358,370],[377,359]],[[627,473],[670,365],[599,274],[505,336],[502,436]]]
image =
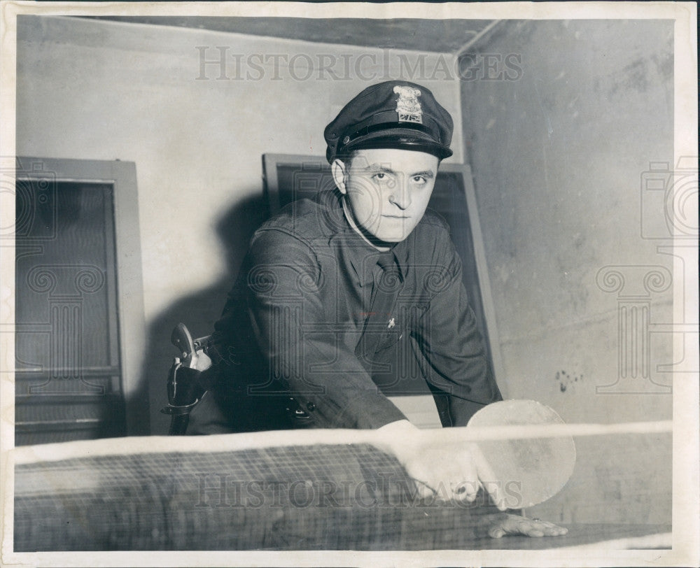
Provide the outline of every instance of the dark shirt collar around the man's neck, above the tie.
[[[323,195],[325,194],[325,195]],[[406,239],[396,243],[390,250],[381,252],[367,243],[345,217],[342,207],[342,193],[337,189],[322,192],[319,199],[326,204],[328,215],[328,227],[330,236],[328,244],[337,247],[339,257],[349,264],[360,286],[372,285],[374,281],[373,271],[377,259],[381,255],[391,253],[396,261],[399,275],[402,280],[407,276],[407,243]]]

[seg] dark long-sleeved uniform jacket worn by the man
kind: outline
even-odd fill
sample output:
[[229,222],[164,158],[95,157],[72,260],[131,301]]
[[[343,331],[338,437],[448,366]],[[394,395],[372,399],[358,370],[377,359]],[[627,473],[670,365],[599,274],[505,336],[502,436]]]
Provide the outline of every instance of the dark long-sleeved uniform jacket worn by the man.
[[[393,304],[381,313],[380,285]],[[405,418],[386,385],[432,392],[443,425],[501,399],[444,220],[427,211],[382,254],[348,224],[337,190],[255,232],[208,353],[211,389],[188,433],[377,428]]]

